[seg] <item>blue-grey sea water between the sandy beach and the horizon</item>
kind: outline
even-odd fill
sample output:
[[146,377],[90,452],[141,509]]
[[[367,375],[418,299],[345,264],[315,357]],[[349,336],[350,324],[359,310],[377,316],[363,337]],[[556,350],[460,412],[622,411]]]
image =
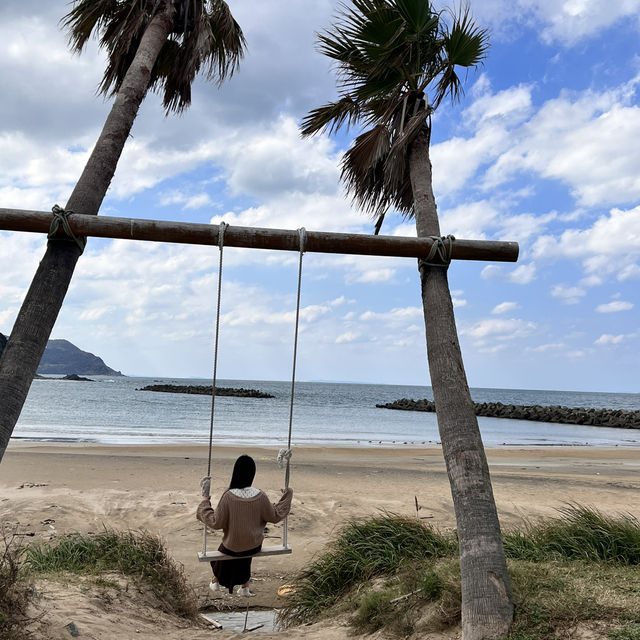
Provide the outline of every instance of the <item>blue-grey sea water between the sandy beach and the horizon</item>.
[[[149,384],[211,384],[200,379],[96,376],[94,382],[34,380],[13,433],[18,440],[102,444],[206,443],[209,396],[139,391]],[[218,444],[280,447],[287,441],[290,382],[220,380],[274,398],[215,399]],[[640,394],[472,389],[475,402],[640,410]],[[430,387],[297,382],[293,443],[334,446],[439,444],[436,416],[378,409],[400,398],[433,399]],[[488,447],[640,446],[640,431],[479,417]]]

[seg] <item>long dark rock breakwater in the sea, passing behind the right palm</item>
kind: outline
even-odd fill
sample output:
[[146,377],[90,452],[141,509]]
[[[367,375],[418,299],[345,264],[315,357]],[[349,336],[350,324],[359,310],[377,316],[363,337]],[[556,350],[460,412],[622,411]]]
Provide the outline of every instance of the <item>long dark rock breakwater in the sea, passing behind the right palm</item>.
[[[614,427],[618,429],[640,429],[640,411],[623,409],[581,409],[553,405],[516,405],[502,402],[474,402],[477,416],[487,418],[511,418],[512,420],[534,420],[536,422],[556,422],[562,424],[582,424],[594,427]],[[431,400],[409,400],[402,398],[387,404],[377,404],[380,409],[401,411],[431,411],[436,405]]]

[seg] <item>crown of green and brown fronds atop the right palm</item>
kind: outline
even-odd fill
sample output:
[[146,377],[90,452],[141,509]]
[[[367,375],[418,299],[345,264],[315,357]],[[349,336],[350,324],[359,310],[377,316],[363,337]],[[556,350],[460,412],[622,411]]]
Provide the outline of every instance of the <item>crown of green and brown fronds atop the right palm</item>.
[[468,7],[436,11],[430,0],[351,0],[318,35],[342,97],[312,110],[302,133],[333,134],[356,123],[367,128],[345,153],[341,180],[354,202],[377,218],[376,231],[390,207],[413,215],[412,144],[430,132],[429,117],[445,96],[462,95],[459,69],[481,64],[487,48],[487,31]]

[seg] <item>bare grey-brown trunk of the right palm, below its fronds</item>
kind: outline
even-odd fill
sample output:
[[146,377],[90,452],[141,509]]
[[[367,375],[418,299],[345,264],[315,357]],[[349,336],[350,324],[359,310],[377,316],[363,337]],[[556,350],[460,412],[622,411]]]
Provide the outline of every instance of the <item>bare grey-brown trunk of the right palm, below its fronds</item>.
[[[440,236],[426,133],[413,143],[409,163],[417,234]],[[513,620],[511,583],[447,269],[421,265],[420,279],[431,385],[460,541],[462,637],[503,639]]]

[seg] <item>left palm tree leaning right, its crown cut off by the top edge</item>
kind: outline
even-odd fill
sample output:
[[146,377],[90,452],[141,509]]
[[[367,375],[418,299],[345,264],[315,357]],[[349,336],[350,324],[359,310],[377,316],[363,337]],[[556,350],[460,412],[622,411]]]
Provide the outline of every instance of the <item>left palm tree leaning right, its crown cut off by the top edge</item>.
[[[97,214],[147,91],[162,91],[167,113],[185,109],[196,74],[222,83],[237,69],[245,41],[224,0],[76,0],[62,22],[74,50],[95,33],[109,55],[100,90],[115,100],[66,205],[67,211]],[[82,239],[50,234],[0,359],[0,461],[82,245]]]

